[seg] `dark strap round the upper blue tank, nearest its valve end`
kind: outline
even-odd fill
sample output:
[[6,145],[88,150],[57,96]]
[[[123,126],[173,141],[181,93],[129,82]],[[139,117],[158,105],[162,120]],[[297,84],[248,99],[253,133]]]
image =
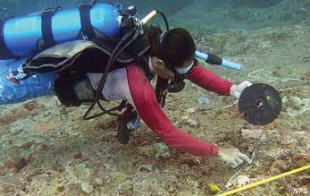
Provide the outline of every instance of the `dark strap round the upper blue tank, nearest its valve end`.
[[81,4],[79,7],[80,24],[82,26],[83,35],[86,37],[85,39],[96,38],[95,30],[93,29],[90,21],[90,9],[94,4],[98,4],[98,2],[94,1],[91,4]]

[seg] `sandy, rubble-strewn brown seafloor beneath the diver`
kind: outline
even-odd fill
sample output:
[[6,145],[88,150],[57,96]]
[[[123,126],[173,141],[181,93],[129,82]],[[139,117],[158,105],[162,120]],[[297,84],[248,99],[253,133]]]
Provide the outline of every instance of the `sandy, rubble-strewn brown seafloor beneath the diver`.
[[[185,9],[172,21],[193,10]],[[181,18],[186,26],[186,17]],[[258,141],[258,132],[265,131],[254,164],[239,174],[230,189],[308,165],[310,26],[289,22],[208,33],[202,31],[203,25],[199,28],[192,31],[200,49],[244,66],[236,72],[201,64],[235,83],[272,85],[281,93],[282,112],[272,124],[253,126],[240,117],[237,104],[231,105],[233,98],[188,82],[184,91],[167,98],[164,111],[172,124],[201,140],[234,146],[247,154]],[[199,98],[209,102],[200,104]],[[38,98],[1,107],[0,195],[213,195],[207,184],[225,191],[236,172],[219,158],[195,158],[167,148],[146,124],[133,132],[129,145],[121,145],[115,137],[114,117],[83,121],[87,107],[79,107],[67,109],[61,118],[56,101]],[[236,195],[306,195],[294,194],[294,188],[310,192],[310,171]]]

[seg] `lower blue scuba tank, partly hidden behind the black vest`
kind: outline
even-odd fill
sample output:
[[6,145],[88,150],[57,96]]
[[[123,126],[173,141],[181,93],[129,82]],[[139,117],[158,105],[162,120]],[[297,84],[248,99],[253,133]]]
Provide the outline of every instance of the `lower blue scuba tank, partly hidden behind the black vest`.
[[0,105],[19,103],[30,98],[38,98],[54,94],[54,73],[38,74],[24,77],[21,60],[0,60]]

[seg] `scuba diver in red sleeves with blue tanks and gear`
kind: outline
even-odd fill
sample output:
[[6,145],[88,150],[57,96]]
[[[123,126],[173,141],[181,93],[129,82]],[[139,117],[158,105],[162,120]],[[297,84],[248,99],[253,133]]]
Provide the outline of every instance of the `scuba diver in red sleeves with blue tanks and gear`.
[[[96,27],[99,19],[94,18],[102,9],[108,14],[108,17],[100,18],[100,25],[104,20],[108,23],[104,28]],[[54,93],[64,107],[91,105],[85,119],[103,114],[116,115],[114,109],[121,111],[126,108],[122,115],[116,115],[119,122],[117,138],[122,144],[129,142],[130,132],[137,129],[139,119],[142,119],[171,148],[202,158],[218,156],[232,167],[244,161],[250,163],[247,155],[239,149],[224,149],[179,130],[161,108],[165,95],[183,89],[184,80],[222,96],[239,98],[242,91],[252,85],[249,81],[238,85],[225,81],[199,66],[196,57],[204,58],[209,64],[236,64],[198,52],[189,31],[182,28],[169,30],[160,12],[150,13],[151,16],[139,20],[133,6],[122,9],[120,5],[93,3],[70,11],[70,24],[56,24],[56,21],[70,16],[64,12],[69,11],[57,8],[57,11],[28,16],[28,21],[13,18],[2,22],[0,56],[15,60],[0,62],[3,70],[0,72],[0,104]],[[156,13],[165,19],[167,30],[145,25]],[[70,28],[76,14],[80,17],[75,28],[79,33]],[[40,33],[29,35],[36,28],[29,32],[27,24],[16,29],[16,22],[27,23],[33,17],[42,19],[38,21]],[[112,21],[106,21],[106,18]],[[63,30],[68,32],[63,33]],[[105,36],[100,37],[100,34]],[[155,75],[157,84],[154,89],[150,81]],[[101,100],[120,100],[121,105],[106,110],[101,106]],[[88,117],[96,105],[103,113]]]

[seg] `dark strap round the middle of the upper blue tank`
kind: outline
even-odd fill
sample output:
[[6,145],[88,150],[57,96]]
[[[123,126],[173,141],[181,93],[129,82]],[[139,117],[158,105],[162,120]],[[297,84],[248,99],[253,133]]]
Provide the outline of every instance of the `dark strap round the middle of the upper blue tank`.
[[56,45],[52,31],[52,16],[57,11],[62,10],[62,7],[56,7],[55,9],[46,9],[42,14],[42,37],[44,41],[44,47],[53,47]]

